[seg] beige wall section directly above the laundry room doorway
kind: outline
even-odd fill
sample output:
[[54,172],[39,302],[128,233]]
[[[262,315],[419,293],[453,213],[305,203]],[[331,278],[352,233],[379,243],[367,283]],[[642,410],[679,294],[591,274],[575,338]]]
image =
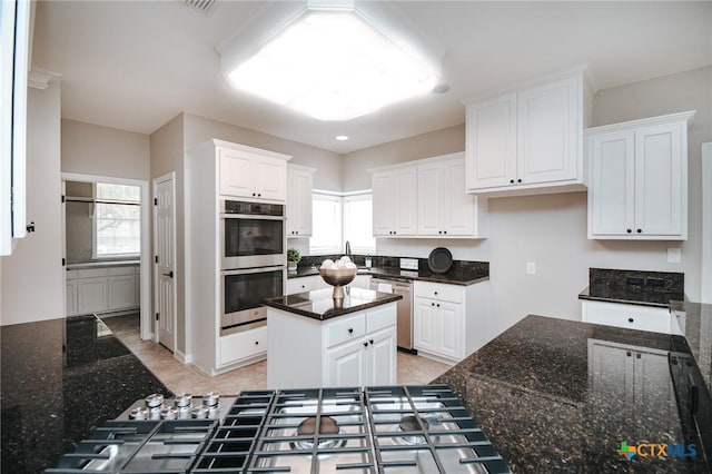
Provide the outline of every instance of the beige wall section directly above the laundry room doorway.
[[148,135],[62,119],[63,172],[148,179]]

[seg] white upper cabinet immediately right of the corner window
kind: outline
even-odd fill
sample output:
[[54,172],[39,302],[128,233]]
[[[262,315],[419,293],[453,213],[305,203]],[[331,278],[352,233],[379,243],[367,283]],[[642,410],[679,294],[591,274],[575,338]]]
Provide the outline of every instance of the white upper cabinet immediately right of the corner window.
[[416,168],[373,175],[374,236],[413,237],[417,233]]

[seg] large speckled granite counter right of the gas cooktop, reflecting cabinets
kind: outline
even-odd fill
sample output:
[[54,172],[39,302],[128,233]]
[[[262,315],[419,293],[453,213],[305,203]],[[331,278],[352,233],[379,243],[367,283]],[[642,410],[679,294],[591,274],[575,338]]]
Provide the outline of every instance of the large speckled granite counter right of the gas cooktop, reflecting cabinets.
[[668,335],[527,316],[434,383],[462,398],[522,473],[702,473],[695,457],[626,461],[622,442],[685,437]]

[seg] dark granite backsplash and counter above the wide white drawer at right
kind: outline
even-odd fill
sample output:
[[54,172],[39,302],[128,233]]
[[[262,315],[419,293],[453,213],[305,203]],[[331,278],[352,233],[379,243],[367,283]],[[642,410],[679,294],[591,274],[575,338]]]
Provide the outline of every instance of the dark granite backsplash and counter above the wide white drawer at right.
[[668,307],[684,299],[684,274],[590,268],[589,287],[580,299]]

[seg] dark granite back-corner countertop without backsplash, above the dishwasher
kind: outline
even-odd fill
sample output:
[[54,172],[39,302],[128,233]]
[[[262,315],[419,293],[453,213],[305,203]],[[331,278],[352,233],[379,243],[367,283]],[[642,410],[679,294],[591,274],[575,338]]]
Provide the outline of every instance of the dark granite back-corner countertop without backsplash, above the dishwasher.
[[[287,271],[287,278],[299,278],[305,276],[319,275],[319,270],[312,267],[299,267],[297,271]],[[362,267],[358,269],[358,275],[370,275],[374,278],[377,277],[397,277],[409,280],[434,282],[445,283],[449,285],[474,285],[479,282],[490,279],[490,269],[486,268],[468,268],[457,269],[454,268],[444,274],[436,274],[427,268],[421,268],[419,270],[402,270],[398,267]]]

